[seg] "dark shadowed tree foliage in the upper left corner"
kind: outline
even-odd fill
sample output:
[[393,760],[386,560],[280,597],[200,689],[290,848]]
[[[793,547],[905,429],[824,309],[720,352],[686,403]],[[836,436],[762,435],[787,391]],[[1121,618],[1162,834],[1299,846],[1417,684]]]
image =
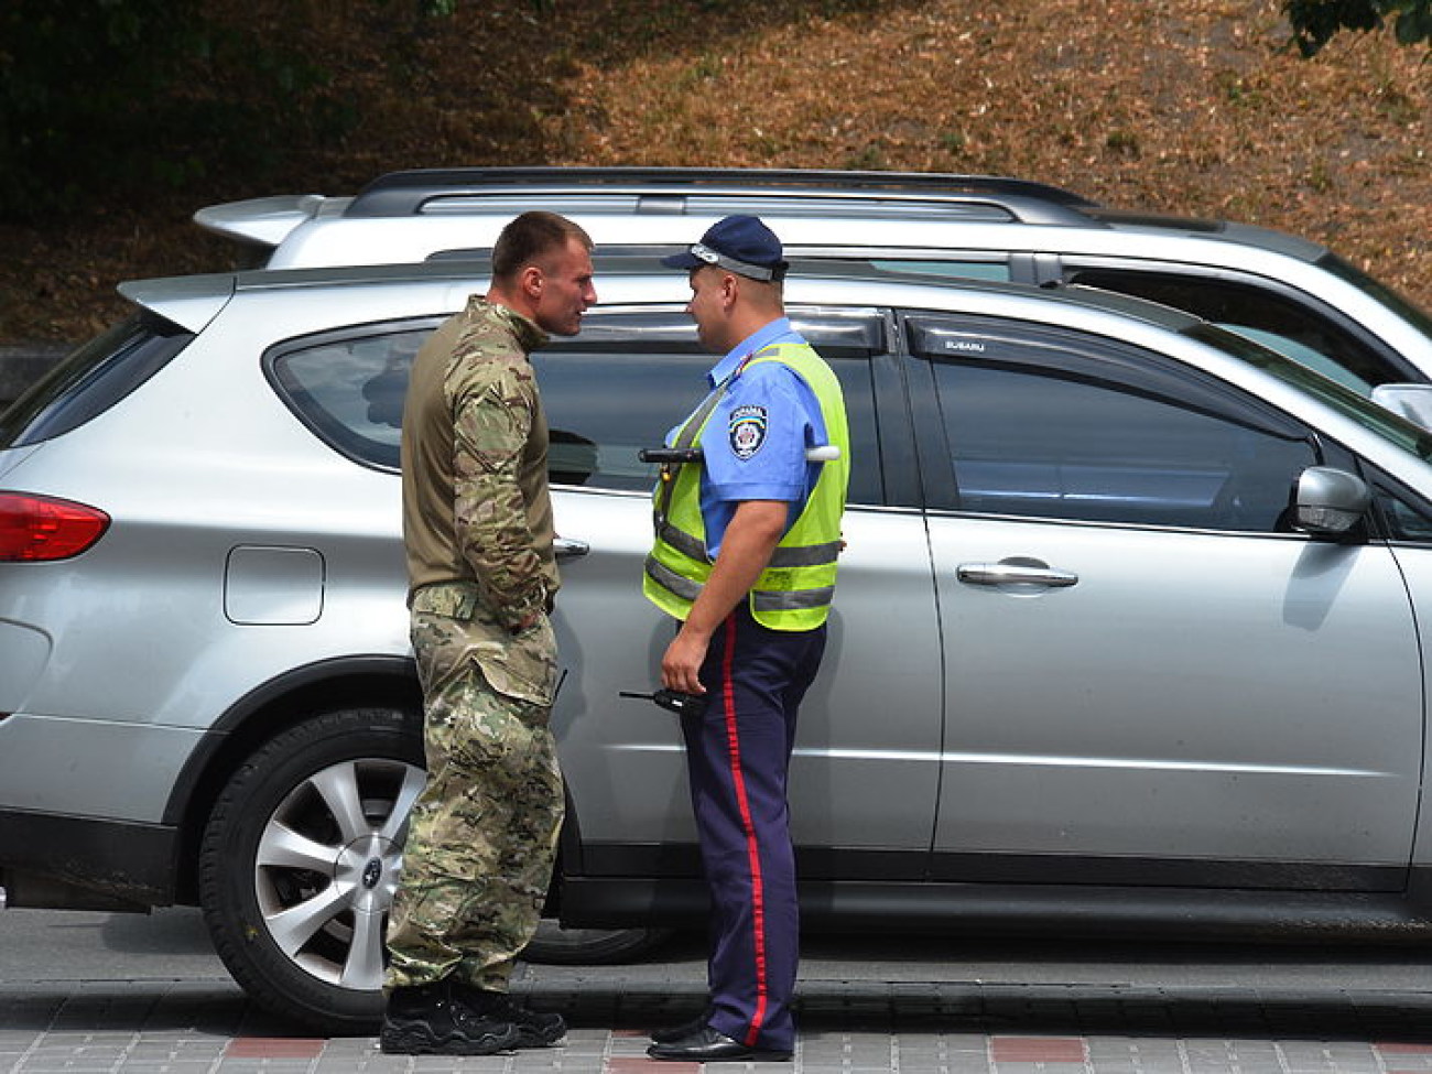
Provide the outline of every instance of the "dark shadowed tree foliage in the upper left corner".
[[[401,36],[454,0],[362,7]],[[152,200],[222,175],[263,182],[295,146],[341,139],[357,116],[308,59],[309,9],[3,0],[0,219]]]

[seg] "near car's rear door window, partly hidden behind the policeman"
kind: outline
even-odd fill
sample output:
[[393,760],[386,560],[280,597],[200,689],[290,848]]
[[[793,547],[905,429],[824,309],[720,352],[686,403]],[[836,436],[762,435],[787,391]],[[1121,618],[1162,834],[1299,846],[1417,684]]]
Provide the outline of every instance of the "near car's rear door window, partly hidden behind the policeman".
[[[841,379],[851,424],[851,503],[882,500],[871,352],[882,338],[874,318],[802,316],[792,322]],[[589,314],[581,334],[533,355],[551,431],[551,480],[586,488],[649,491],[657,468],[637,451],[667,431],[706,394],[717,361],[702,349],[684,314]]]

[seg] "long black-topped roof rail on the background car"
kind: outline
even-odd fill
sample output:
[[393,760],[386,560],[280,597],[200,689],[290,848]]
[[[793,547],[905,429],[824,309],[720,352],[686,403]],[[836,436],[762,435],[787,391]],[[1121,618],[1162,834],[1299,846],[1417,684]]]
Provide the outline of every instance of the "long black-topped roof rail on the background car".
[[[848,209],[861,205],[947,203],[975,205],[1021,223],[1090,226],[1080,209],[1095,208],[1081,195],[1058,186],[985,175],[938,172],[841,172],[815,169],[745,168],[432,168],[390,172],[368,183],[344,209],[344,216],[392,218],[425,212],[477,211],[491,199],[508,211],[514,195],[574,195],[626,198],[634,212],[682,215],[703,199],[760,202],[779,213],[782,203],[811,212],[812,203]],[[444,202],[447,205],[444,206]],[[769,209],[765,206],[769,205]],[[533,205],[536,208],[536,202]],[[1095,225],[1097,226],[1097,225]]]

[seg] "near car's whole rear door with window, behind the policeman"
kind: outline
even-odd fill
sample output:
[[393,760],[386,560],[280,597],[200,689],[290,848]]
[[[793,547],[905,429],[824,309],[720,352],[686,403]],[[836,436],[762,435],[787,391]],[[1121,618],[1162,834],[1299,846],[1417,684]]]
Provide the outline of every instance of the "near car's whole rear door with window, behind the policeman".
[[[924,523],[918,510],[886,504],[882,457],[906,421],[904,394],[899,408],[878,412],[872,362],[894,362],[878,314],[793,309],[792,319],[839,375],[852,428],[848,548],[790,775],[802,875],[922,876],[939,779],[941,654]],[[659,445],[700,401],[715,357],[680,309],[629,308],[589,314],[579,337],[533,364],[566,553],[556,626],[567,677],[553,719],[583,868],[695,874],[676,717],[619,692],[650,690],[673,637],[673,621],[640,591],[656,471],[637,450]]]

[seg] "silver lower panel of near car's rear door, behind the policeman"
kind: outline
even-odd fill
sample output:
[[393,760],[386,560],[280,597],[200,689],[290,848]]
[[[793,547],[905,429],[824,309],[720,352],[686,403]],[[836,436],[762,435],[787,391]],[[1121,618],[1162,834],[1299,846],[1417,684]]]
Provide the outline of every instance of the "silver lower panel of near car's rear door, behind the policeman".
[[[676,717],[650,690],[674,623],[639,591],[646,497],[554,494],[557,531],[590,543],[566,560],[554,620],[569,673],[553,713],[563,770],[591,843],[693,843]],[[798,846],[929,849],[938,790],[939,630],[918,514],[851,511],[826,673],[802,709],[790,773]],[[901,637],[891,652],[886,642]],[[891,719],[889,706],[901,707]],[[876,793],[872,793],[879,788]]]

